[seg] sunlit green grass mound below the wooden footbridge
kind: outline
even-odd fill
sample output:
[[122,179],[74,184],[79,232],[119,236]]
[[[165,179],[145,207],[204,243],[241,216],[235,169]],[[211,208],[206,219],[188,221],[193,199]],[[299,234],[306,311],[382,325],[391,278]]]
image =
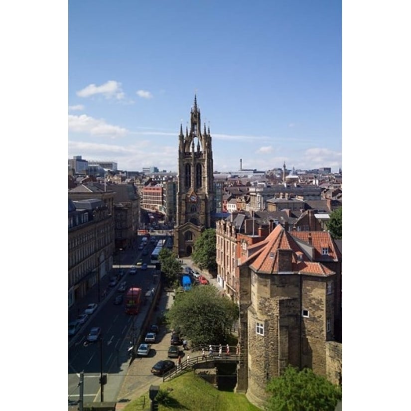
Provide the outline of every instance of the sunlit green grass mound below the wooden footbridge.
[[[159,411],[192,410],[192,411],[261,411],[252,405],[244,394],[218,391],[211,384],[189,371],[171,381],[160,385],[160,390],[172,389],[170,404],[159,404]],[[148,391],[145,394],[146,408],[149,407]],[[148,401],[148,404],[147,404]],[[141,399],[131,401],[124,411],[141,410]]]

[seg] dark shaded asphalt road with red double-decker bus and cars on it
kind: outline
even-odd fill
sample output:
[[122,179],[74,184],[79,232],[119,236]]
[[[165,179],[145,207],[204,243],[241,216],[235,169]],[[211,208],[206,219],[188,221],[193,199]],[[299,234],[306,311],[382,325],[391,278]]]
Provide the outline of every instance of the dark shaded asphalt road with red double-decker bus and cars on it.
[[[158,239],[160,236],[158,237]],[[133,316],[125,313],[124,303],[114,304],[114,298],[118,294],[125,294],[117,291],[120,282],[127,282],[127,289],[130,286],[137,286],[142,289],[144,296],[147,290],[153,286],[158,286],[158,281],[153,284],[154,266],[149,264],[150,253],[154,244],[146,246],[148,254],[142,256],[142,251],[136,249],[125,250],[122,255],[121,269],[125,270],[119,283],[112,288],[107,288],[108,292],[104,299],[101,299],[97,310],[90,315],[90,318],[82,325],[81,329],[74,337],[69,339],[69,368],[68,368],[68,392],[70,401],[75,402],[79,398],[80,372],[84,372],[84,402],[100,401],[100,373],[108,374],[107,384],[104,386],[104,401],[116,401],[118,391],[122,385],[123,377],[129,366],[130,341],[133,339],[133,332],[138,335],[140,326],[143,323],[149,307],[149,301],[144,305],[141,303],[140,312],[135,316],[133,326]],[[142,259],[148,265],[147,270],[137,269],[137,274],[128,274],[131,265],[138,259]],[[117,266],[115,268],[118,270]],[[106,275],[110,277],[110,275]],[[104,278],[108,283],[109,278]],[[94,287],[97,288],[97,287]],[[106,289],[104,283],[100,284],[101,289]],[[77,313],[84,311],[89,302],[97,301],[97,290],[90,290],[87,301],[77,304],[69,309],[69,319],[76,318]],[[142,298],[143,299],[143,298]],[[84,344],[92,327],[101,327],[102,341]],[[102,350],[101,350],[102,349]],[[69,407],[69,410],[77,410],[77,405]]]

